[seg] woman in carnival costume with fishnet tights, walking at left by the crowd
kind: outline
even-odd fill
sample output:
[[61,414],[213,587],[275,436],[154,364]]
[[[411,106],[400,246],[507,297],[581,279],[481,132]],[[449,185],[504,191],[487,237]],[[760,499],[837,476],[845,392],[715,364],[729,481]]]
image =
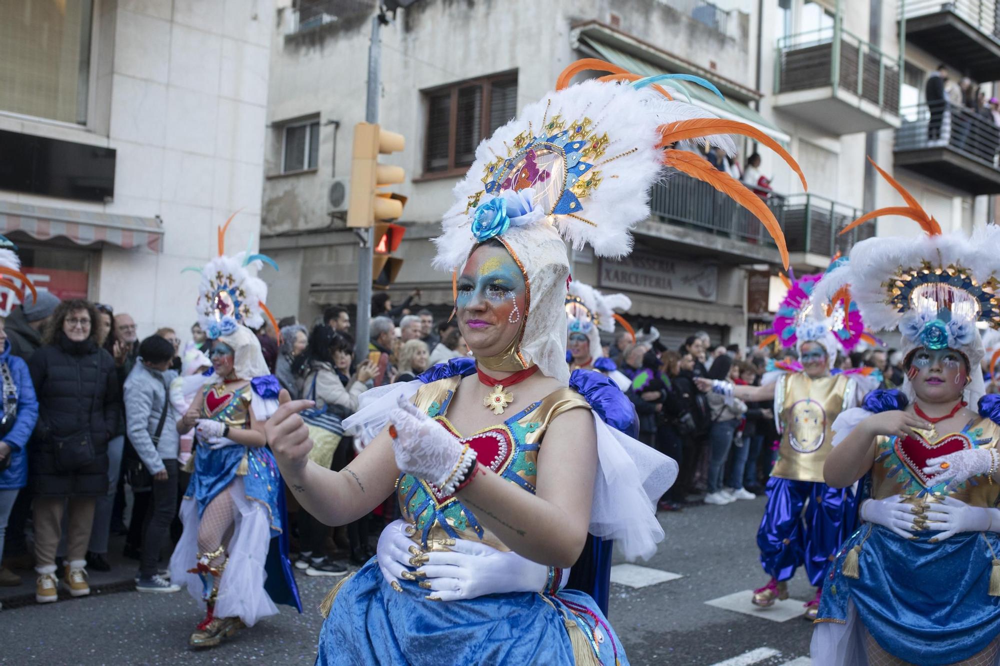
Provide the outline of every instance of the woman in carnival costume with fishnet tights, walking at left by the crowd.
[[218,645],[274,615],[275,603],[302,610],[283,532],[284,487],[263,428],[277,407],[280,387],[247,328],[263,325],[262,312],[270,317],[267,286],[247,267],[273,262],[263,255],[225,256],[231,220],[219,230],[219,256],[201,271],[198,294],[199,323],[212,341],[214,379],[197,391],[177,422],[178,432],[194,428],[197,442],[181,502],[184,532],[170,573],[206,605],[205,619],[188,640],[195,648]]

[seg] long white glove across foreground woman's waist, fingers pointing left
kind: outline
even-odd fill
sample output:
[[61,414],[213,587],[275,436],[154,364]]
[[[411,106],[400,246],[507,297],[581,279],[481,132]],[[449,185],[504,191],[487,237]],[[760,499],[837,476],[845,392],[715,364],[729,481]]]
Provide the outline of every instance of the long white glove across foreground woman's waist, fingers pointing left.
[[[418,576],[427,577],[421,586],[432,590],[431,596],[441,601],[504,592],[541,592],[548,582],[548,567],[515,552],[463,539],[456,539],[449,548],[450,553],[427,553],[426,563],[417,569]],[[564,576],[568,574],[566,569]]]

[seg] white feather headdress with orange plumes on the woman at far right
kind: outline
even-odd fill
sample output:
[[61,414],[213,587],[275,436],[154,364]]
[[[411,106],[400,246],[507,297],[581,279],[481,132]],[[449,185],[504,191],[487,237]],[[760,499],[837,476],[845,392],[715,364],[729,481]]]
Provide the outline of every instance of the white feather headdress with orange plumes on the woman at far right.
[[907,206],[868,213],[841,233],[880,215],[909,217],[925,233],[915,238],[861,241],[851,249],[849,263],[820,281],[814,298],[835,300],[846,289],[868,327],[899,330],[904,357],[921,347],[962,352],[972,377],[970,401],[976,400],[983,389],[979,363],[985,353],[976,324],[1000,327],[1000,228],[988,224],[971,237],[942,234],[937,220],[909,192],[875,168]]

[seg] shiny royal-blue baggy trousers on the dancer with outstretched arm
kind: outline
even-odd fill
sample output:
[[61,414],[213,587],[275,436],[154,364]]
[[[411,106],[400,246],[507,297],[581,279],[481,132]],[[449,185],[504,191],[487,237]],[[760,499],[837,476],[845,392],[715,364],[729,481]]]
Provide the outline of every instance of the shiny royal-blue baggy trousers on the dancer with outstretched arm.
[[805,565],[809,582],[819,587],[856,520],[850,488],[772,476],[767,480],[767,506],[757,530],[761,566],[783,581]]

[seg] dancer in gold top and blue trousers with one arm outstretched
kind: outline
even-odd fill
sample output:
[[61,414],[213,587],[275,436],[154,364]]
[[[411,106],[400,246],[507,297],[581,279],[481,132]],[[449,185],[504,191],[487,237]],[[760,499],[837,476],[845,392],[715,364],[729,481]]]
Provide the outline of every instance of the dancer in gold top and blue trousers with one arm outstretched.
[[[835,261],[831,268],[838,265]],[[765,374],[760,386],[734,386],[728,381],[696,380],[744,401],[774,399],[781,443],[767,481],[767,504],[757,531],[760,563],[771,576],[754,590],[753,603],[768,608],[788,598],[788,580],[805,566],[816,597],[805,604],[806,619],[816,617],[823,575],[841,542],[853,529],[857,504],[852,489],[823,482],[823,463],[832,450],[830,427],[838,414],[860,404],[875,388],[860,372],[834,374],[840,349],[850,351],[868,338],[857,306],[838,299],[818,300],[812,292],[820,275],[794,282],[778,309],[775,325],[762,344],[780,341],[798,352],[798,362]],[[833,305],[830,305],[831,300]]]

